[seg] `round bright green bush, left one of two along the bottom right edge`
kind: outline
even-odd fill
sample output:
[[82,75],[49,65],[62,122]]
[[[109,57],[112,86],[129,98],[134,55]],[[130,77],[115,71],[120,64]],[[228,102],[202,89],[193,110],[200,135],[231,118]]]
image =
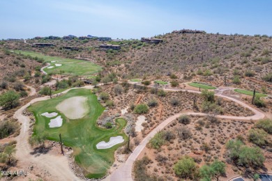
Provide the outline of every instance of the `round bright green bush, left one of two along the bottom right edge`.
[[197,171],[197,165],[191,157],[184,156],[174,164],[174,173],[181,178],[192,179],[195,171]]

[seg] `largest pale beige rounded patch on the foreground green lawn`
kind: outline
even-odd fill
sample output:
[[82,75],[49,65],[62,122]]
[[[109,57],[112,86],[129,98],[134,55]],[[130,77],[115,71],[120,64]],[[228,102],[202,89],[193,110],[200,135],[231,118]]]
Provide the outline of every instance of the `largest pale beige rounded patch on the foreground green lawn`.
[[56,109],[64,113],[69,119],[79,119],[88,113],[89,105],[87,104],[87,97],[75,96],[63,100],[56,106]]

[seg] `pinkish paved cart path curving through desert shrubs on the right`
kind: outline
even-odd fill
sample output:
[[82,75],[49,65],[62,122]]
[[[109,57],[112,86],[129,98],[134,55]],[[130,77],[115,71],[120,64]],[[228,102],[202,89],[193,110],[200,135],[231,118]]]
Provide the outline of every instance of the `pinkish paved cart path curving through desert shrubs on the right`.
[[[174,89],[172,90],[171,88],[164,88],[165,91],[188,91],[189,93],[201,93],[199,91],[190,91],[190,90],[177,90]],[[239,100],[236,100],[232,97],[228,97],[226,95],[221,95],[216,94],[216,96],[218,97],[223,97],[226,98],[228,100],[232,100],[238,104],[240,104],[243,107],[246,107],[248,109],[250,109],[251,111],[253,111],[255,113],[254,116],[248,116],[248,117],[243,117],[243,116],[217,116],[218,118],[226,118],[226,119],[235,119],[235,120],[259,120],[264,118],[264,113],[262,113],[261,111],[258,111],[257,109],[248,106],[248,104],[245,104],[244,102],[241,102]],[[137,157],[139,156],[139,154],[142,152],[142,150],[144,150],[144,148],[146,147],[146,144],[149,143],[149,140],[151,138],[153,138],[153,136],[155,136],[155,134],[157,132],[159,132],[160,130],[162,130],[164,127],[166,127],[169,123],[171,123],[173,120],[176,120],[176,118],[179,118],[179,116],[181,115],[194,115],[194,116],[206,116],[206,113],[195,113],[195,112],[189,112],[189,113],[178,113],[174,116],[171,116],[169,118],[167,118],[166,120],[163,121],[163,123],[160,123],[160,125],[158,125],[155,129],[153,129],[143,140],[141,143],[139,143],[139,145],[137,145],[137,147],[135,148],[135,150],[133,150],[133,153],[128,157],[128,159],[126,160],[126,163],[123,164],[122,166],[120,166],[119,168],[116,169],[116,171],[114,171],[114,173],[112,173],[110,175],[110,180],[112,181],[132,181],[132,171],[133,171],[133,163],[135,162],[135,160],[137,159]]]

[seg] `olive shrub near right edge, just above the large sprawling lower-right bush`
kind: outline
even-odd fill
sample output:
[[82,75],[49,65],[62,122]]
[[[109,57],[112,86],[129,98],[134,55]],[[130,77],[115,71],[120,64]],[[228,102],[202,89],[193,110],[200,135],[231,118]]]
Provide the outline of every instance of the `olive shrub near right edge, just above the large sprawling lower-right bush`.
[[248,139],[255,145],[266,145],[267,141],[267,133],[264,132],[263,129],[250,129],[248,132]]

